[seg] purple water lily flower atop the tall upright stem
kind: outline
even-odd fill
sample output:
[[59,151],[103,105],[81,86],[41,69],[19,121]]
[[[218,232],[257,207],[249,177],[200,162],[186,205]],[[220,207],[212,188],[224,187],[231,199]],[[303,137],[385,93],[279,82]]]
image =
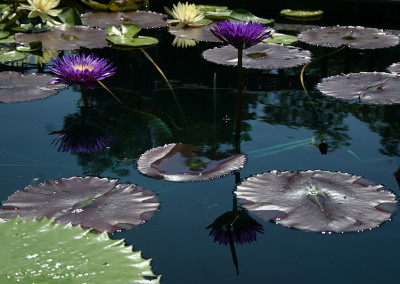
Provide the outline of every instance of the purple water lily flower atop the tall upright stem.
[[249,48],[271,36],[261,23],[245,21],[221,21],[211,29],[211,32],[223,42],[236,48]]

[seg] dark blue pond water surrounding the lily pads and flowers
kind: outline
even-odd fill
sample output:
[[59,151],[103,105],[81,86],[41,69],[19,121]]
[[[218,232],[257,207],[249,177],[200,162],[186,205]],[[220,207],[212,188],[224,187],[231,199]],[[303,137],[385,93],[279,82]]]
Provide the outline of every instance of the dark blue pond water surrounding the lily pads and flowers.
[[[286,26],[285,29],[288,29]],[[297,34],[296,27],[284,30]],[[263,225],[257,241],[235,244],[238,268],[229,245],[209,236],[216,218],[232,210],[239,179],[271,170],[341,171],[383,184],[396,195],[394,173],[400,166],[400,107],[358,104],[316,91],[324,77],[340,73],[385,71],[400,61],[400,47],[343,50],[312,63],[305,82],[316,108],[301,87],[302,66],[285,70],[245,70],[241,152],[247,163],[236,174],[203,182],[157,180],[137,170],[136,159],[166,143],[207,146],[210,153],[233,153],[237,73],[234,67],[205,61],[201,53],[217,44],[173,47],[164,29],[144,31],[160,43],[148,49],[172,84],[179,101],[140,50],[84,50],[110,59],[117,74],[104,83],[125,103],[100,86],[71,86],[44,100],[0,104],[1,200],[29,184],[72,176],[99,176],[134,183],[155,192],[160,210],[149,221],[112,238],[125,238],[152,259],[162,283],[396,283],[400,249],[398,213],[380,227],[359,233],[321,234],[289,229],[251,215]],[[334,49],[295,44],[313,57]],[[34,64],[26,72],[38,70]],[[2,65],[4,70],[22,69]],[[93,106],[91,122],[117,140],[104,152],[58,152],[49,135],[83,115],[82,92]],[[182,111],[180,111],[180,109]],[[144,118],[151,113],[165,126]],[[321,155],[317,145],[329,145]],[[209,154],[211,157],[212,155]],[[240,204],[240,203],[239,203]],[[238,272],[237,272],[238,271]]]

